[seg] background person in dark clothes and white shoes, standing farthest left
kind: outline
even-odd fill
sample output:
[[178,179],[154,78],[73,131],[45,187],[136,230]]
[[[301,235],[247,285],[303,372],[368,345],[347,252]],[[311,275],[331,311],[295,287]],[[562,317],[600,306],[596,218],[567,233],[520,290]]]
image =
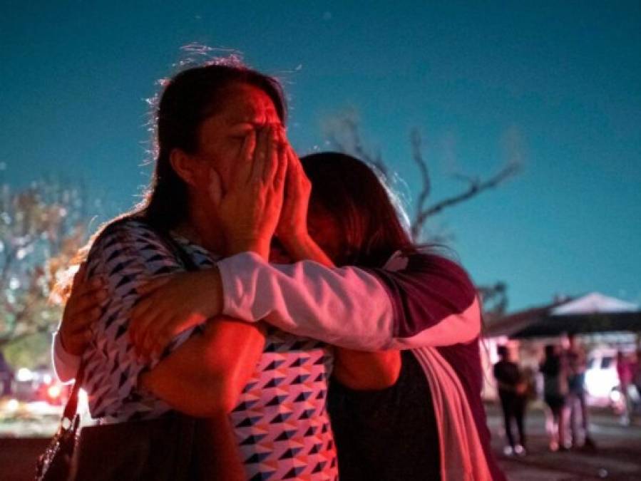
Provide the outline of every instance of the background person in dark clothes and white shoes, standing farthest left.
[[[511,360],[507,346],[498,346],[499,361],[494,365],[493,373],[498,387],[498,398],[501,400],[503,421],[506,427],[508,445],[504,449],[506,455],[525,455],[525,428],[523,418],[525,415],[526,388],[521,369]],[[516,422],[518,430],[518,443],[514,442],[512,420]]]

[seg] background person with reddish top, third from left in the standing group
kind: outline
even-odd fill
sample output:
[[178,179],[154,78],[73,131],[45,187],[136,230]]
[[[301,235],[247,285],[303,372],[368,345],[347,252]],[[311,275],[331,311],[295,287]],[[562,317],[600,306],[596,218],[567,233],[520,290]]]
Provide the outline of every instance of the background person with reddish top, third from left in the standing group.
[[568,363],[568,408],[570,408],[570,430],[572,433],[573,448],[579,447],[580,435],[578,433],[578,414],[581,416],[583,428],[583,446],[595,449],[596,444],[590,438],[588,427],[588,406],[585,404],[585,369],[588,367],[585,351],[578,344],[574,334],[568,335],[568,349],[565,351]]

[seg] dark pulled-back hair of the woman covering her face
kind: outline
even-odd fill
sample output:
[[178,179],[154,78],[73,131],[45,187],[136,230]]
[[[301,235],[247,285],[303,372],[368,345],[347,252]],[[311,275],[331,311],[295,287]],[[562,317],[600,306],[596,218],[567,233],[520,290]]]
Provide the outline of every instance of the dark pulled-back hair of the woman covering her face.
[[239,84],[264,91],[285,123],[287,105],[275,78],[244,66],[207,65],[178,73],[165,84],[155,117],[158,156],[150,187],[136,211],[159,229],[171,229],[187,215],[187,187],[169,158],[179,148],[198,149],[198,132],[204,120],[215,114],[227,90]]

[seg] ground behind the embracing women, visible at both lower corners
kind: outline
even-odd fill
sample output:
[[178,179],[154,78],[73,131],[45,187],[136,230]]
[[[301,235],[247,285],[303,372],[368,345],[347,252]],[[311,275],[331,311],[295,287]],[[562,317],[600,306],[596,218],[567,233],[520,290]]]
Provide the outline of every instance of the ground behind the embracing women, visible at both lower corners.
[[[596,450],[550,452],[545,418],[540,405],[528,410],[526,431],[528,454],[503,455],[503,418],[496,405],[488,405],[488,425],[498,462],[510,481],[640,481],[641,420],[621,425],[618,416],[607,410],[593,410],[590,434]],[[58,408],[59,410],[59,408]],[[0,413],[0,480],[31,481],[37,457],[57,428],[57,415],[19,410],[16,415]],[[376,481],[376,480],[372,480]],[[402,481],[402,480],[399,480]]]

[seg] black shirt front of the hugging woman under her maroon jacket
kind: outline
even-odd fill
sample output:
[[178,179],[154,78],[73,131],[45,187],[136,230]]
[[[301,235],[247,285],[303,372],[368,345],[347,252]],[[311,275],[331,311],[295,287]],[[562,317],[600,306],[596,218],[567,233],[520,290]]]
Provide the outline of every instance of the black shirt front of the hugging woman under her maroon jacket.
[[[401,374],[391,388],[359,392],[337,381],[330,385],[328,409],[342,480],[414,480],[416,473],[424,480],[441,479],[431,391],[414,355],[402,351],[401,356]],[[377,460],[383,452],[385,459]]]

